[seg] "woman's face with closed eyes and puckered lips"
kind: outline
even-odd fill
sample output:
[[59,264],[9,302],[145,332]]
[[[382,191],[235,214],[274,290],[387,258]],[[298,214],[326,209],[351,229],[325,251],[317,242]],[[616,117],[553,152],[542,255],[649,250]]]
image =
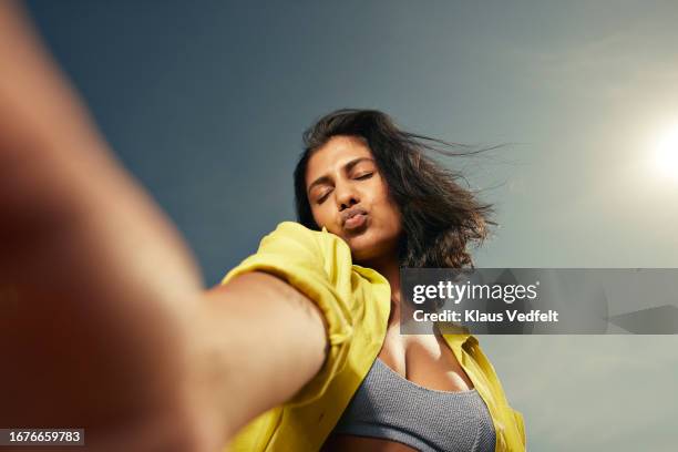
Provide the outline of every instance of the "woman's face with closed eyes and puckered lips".
[[338,135],[308,161],[306,192],[318,226],[343,238],[353,260],[396,258],[400,209],[362,138]]

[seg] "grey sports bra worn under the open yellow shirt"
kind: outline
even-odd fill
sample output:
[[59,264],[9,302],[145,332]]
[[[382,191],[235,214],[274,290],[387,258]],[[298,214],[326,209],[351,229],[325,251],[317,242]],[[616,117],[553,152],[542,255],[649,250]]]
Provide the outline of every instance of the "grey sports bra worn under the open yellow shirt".
[[490,452],[496,441],[487,407],[475,389],[423,388],[379,358],[332,433],[397,441],[422,452]]

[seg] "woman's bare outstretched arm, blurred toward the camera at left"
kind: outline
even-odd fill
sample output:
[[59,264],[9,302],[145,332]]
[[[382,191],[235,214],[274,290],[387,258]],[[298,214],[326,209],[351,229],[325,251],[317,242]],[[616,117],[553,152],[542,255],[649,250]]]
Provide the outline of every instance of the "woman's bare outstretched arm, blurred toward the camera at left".
[[91,450],[218,449],[318,371],[320,314],[266,274],[205,291],[7,0],[0,61],[0,427],[85,427]]

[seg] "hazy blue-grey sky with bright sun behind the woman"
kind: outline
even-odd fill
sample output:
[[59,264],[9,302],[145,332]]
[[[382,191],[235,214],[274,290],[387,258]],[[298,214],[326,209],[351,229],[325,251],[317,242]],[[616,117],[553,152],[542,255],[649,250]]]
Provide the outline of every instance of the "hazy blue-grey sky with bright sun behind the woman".
[[[678,267],[678,167],[651,165],[678,130],[674,1],[29,4],[206,284],[294,218],[301,132],[345,106],[452,142],[516,143],[446,161],[496,204],[480,267]],[[531,450],[678,442],[676,337],[481,343]]]

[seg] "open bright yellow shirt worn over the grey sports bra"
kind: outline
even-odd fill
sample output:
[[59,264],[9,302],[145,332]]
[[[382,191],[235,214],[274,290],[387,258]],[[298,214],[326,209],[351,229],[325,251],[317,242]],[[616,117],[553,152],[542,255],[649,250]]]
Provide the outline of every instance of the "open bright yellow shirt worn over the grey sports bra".
[[[248,423],[225,451],[318,451],[381,350],[391,308],[389,282],[376,270],[352,265],[340,237],[292,222],[280,223],[264,237],[257,253],[222,284],[254,270],[287,280],[320,307],[330,349],[311,381]],[[523,417],[508,405],[477,339],[469,333],[443,337],[490,410],[495,451],[524,451]]]

